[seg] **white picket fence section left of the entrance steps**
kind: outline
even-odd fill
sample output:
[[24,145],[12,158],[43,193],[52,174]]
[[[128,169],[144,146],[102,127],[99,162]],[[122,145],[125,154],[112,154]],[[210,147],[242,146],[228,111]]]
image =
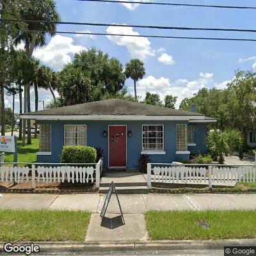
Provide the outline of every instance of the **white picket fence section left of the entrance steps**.
[[[36,188],[38,182],[72,182],[89,183],[95,181],[95,187],[100,186],[100,174],[103,170],[103,159],[96,164],[65,164],[65,163],[1,163],[1,182],[32,182],[32,188]],[[29,165],[28,166],[19,166]],[[29,171],[31,170],[31,179]]]

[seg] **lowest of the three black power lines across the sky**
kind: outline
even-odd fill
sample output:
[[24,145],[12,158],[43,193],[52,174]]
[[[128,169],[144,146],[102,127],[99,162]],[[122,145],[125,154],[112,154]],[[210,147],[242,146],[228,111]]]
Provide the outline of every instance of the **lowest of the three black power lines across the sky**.
[[[0,29],[4,31],[6,29]],[[45,33],[44,30],[24,30],[26,32]],[[221,41],[247,41],[256,42],[251,38],[223,38],[223,37],[195,37],[195,36],[158,36],[158,35],[129,35],[129,34],[109,34],[109,33],[90,33],[90,32],[72,32],[72,31],[56,31],[57,34],[74,34],[74,35],[100,35],[100,36],[132,36],[132,37],[148,37],[148,38],[171,38],[171,39],[191,39],[191,40],[221,40]]]

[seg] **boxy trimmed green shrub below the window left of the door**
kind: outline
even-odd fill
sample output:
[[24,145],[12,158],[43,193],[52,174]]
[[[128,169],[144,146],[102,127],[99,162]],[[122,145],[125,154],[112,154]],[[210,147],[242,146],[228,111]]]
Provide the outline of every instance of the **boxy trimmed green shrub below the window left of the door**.
[[96,163],[97,151],[93,147],[64,146],[61,163]]

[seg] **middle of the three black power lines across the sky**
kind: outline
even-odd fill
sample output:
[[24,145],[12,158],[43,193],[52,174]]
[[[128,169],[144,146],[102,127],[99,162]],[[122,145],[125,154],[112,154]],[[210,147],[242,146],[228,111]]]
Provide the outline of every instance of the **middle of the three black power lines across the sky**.
[[65,22],[54,20],[20,20],[20,19],[0,19],[4,22],[30,22],[30,23],[54,23],[68,25],[83,25],[83,26],[104,26],[104,27],[129,27],[129,28],[150,28],[150,29],[174,29],[174,30],[202,30],[202,31],[235,31],[235,32],[250,32],[255,33],[256,29],[233,29],[233,28],[189,28],[189,27],[173,27],[173,26],[145,26],[145,25],[127,25],[127,24],[108,24],[108,23],[91,23],[91,22]]

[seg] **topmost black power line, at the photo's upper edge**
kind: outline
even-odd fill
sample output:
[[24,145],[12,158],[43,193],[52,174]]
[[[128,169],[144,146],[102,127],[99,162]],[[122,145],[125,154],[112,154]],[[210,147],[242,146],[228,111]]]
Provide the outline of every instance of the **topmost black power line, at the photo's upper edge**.
[[129,3],[129,4],[151,4],[165,6],[188,6],[188,7],[207,7],[207,8],[226,8],[226,9],[256,9],[254,6],[228,6],[228,5],[211,5],[211,4],[178,4],[178,3],[157,3],[157,2],[141,2],[141,1],[115,1],[115,0],[76,0],[86,2],[101,3]]

